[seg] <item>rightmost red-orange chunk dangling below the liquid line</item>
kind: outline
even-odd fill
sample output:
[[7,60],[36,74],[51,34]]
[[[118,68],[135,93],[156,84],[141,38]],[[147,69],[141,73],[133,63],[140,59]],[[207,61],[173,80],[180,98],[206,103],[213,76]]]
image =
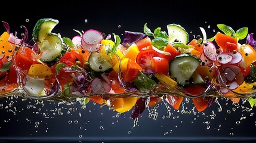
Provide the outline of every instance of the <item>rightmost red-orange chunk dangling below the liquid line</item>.
[[196,110],[203,111],[208,107],[209,97],[193,98],[192,101]]

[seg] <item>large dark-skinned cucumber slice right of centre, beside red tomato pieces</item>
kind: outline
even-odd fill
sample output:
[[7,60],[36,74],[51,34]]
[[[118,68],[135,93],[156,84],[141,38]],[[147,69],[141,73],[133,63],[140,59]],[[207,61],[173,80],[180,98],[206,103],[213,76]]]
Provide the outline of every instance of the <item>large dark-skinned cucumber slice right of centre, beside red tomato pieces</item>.
[[179,85],[189,85],[189,79],[200,63],[201,60],[191,54],[177,55],[169,64],[170,76]]

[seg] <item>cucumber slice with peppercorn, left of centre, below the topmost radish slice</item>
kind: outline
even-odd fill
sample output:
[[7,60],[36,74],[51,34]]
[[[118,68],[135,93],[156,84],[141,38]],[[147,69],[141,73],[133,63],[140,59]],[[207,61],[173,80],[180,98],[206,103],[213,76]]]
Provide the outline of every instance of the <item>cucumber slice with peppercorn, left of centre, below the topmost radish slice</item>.
[[102,52],[92,52],[88,62],[92,70],[106,71],[112,68],[109,58],[109,55],[102,54]]

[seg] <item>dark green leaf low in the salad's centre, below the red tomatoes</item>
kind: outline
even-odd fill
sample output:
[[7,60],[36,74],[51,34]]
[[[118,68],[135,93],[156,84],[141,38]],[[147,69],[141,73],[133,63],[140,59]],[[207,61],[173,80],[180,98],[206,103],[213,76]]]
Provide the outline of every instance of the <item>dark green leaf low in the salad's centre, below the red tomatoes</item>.
[[155,80],[150,79],[140,71],[140,76],[134,80],[134,85],[139,91],[149,91],[157,85]]

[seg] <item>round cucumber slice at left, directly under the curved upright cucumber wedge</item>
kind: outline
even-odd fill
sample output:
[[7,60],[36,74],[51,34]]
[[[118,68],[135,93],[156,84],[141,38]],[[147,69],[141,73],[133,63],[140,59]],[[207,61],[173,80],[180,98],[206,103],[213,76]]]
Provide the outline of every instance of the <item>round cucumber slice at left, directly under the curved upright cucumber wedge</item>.
[[50,33],[38,46],[42,52],[40,60],[53,61],[61,54],[64,42],[60,35]]

